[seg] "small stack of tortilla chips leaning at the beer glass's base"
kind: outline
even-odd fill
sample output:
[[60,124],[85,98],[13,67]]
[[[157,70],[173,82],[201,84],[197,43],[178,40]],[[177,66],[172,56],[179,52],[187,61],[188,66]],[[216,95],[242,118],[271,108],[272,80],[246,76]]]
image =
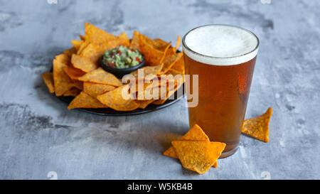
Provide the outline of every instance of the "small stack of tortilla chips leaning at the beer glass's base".
[[217,160],[225,149],[224,143],[210,142],[197,124],[171,144],[171,148],[164,151],[164,156],[178,158],[184,168],[199,174],[206,173],[211,166],[218,167]]

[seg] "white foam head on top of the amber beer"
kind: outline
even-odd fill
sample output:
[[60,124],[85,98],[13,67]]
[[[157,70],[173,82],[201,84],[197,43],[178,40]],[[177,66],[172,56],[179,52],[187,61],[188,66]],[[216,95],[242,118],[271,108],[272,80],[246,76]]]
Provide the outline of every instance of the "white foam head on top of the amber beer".
[[257,36],[243,28],[208,25],[186,34],[183,52],[200,63],[238,65],[255,58],[258,44]]

